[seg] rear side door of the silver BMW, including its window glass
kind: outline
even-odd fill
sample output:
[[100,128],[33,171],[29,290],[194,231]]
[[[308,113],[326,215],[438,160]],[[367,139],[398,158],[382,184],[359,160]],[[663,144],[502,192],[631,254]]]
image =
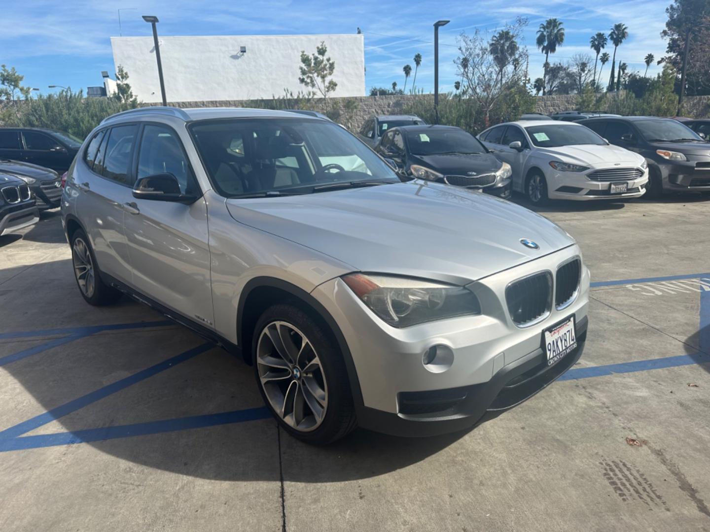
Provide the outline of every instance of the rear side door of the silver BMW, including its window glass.
[[131,263],[124,232],[125,204],[131,199],[130,162],[138,126],[99,131],[75,168],[82,191],[77,212],[84,223],[102,272],[130,284]]

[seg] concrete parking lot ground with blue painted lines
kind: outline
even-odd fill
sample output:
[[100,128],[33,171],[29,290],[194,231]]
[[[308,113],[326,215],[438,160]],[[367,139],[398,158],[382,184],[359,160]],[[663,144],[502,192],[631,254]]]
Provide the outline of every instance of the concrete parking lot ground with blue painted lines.
[[85,304],[58,211],[1,237],[0,530],[710,531],[710,199],[540,214],[591,270],[579,363],[472,431],[328,448],[240,360]]

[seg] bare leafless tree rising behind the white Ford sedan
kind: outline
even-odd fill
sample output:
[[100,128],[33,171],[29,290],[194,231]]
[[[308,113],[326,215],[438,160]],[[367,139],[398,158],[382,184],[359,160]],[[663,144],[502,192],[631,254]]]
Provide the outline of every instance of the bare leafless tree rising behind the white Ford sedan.
[[484,112],[486,127],[490,123],[488,117],[491,109],[498,99],[508,89],[526,82],[527,73],[523,65],[528,64],[528,49],[522,42],[523,30],[527,25],[527,18],[517,18],[513,24],[506,24],[503,28],[518,45],[510,47],[510,54],[502,60],[501,55],[493,53],[495,49],[491,52],[493,35],[479,29],[476,29],[473,35],[459,35],[459,57],[454,63],[464,80],[464,92],[474,99]]

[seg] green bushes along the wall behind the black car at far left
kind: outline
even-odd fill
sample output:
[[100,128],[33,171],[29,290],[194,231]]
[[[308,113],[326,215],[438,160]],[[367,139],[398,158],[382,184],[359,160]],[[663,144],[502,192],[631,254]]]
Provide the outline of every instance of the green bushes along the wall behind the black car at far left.
[[62,91],[17,101],[0,109],[4,126],[50,128],[85,138],[101,121],[121,111],[133,109],[135,101],[113,98],[86,98],[82,92]]

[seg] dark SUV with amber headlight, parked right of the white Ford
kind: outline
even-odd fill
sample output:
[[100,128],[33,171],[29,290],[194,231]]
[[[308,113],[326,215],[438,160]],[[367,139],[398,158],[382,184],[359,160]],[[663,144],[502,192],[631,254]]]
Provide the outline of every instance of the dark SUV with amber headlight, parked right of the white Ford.
[[672,118],[620,116],[579,121],[609,143],[646,157],[647,195],[710,193],[710,143]]

